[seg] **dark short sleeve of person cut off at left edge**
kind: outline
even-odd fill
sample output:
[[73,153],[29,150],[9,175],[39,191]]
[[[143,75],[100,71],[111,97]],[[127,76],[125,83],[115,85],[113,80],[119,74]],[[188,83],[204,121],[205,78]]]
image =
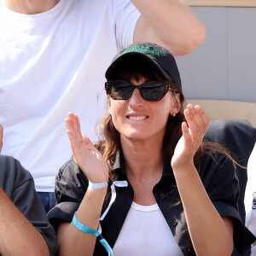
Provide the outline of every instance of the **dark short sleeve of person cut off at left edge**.
[[18,160],[0,154],[0,185],[15,207],[44,236],[50,255],[55,255],[55,230],[49,224],[30,172]]

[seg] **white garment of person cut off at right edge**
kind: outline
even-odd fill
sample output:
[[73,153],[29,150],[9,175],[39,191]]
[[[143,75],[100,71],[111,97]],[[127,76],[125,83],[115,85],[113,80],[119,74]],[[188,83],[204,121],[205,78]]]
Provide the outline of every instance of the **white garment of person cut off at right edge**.
[[[256,236],[256,143],[247,164],[247,187],[245,191],[246,226]],[[256,256],[256,242],[251,256]]]

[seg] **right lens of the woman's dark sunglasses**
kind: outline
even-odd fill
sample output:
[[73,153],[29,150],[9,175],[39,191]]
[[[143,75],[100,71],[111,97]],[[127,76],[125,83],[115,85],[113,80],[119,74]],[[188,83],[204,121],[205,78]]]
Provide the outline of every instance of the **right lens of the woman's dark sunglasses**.
[[156,84],[153,86],[142,86],[140,89],[143,99],[150,102],[159,102],[167,93],[166,84]]

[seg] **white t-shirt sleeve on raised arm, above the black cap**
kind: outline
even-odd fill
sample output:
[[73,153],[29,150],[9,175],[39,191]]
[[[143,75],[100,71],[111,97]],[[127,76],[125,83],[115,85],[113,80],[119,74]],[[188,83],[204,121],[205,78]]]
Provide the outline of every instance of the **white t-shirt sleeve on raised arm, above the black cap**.
[[141,13],[130,1],[113,0],[115,35],[119,50],[133,44],[134,30],[140,15]]

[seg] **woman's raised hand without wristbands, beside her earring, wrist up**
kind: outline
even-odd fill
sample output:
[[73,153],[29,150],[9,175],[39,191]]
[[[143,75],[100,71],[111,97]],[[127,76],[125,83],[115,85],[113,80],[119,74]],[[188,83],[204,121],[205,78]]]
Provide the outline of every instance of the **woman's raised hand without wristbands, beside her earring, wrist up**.
[[205,132],[209,125],[206,113],[198,105],[191,104],[184,110],[185,119],[188,125],[183,122],[183,136],[179,139],[172,156],[172,169],[182,169],[194,165],[193,158],[197,149],[202,143]]

